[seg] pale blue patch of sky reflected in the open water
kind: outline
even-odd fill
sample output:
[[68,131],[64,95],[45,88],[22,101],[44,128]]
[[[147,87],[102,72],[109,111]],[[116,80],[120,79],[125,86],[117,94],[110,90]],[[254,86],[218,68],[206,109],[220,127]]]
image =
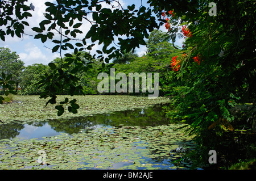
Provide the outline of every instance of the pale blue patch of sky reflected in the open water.
[[51,126],[46,123],[42,127],[35,127],[33,125],[24,124],[24,128],[19,131],[17,138],[31,139],[31,138],[40,138],[44,136],[56,136],[60,132],[54,131]]

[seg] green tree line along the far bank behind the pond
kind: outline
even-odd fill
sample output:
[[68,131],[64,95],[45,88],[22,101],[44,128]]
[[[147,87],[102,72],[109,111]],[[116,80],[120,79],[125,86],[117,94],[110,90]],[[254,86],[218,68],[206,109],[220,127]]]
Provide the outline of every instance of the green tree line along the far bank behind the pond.
[[[167,33],[159,30],[154,30],[150,33],[147,40],[147,53],[139,57],[137,53],[123,53],[121,57],[113,58],[112,63],[116,73],[160,73],[160,88],[162,95],[166,90],[167,71],[170,70],[170,58],[180,50],[172,47],[168,39],[164,39]],[[80,52],[81,60],[86,60],[85,52]],[[74,56],[74,55],[73,55]],[[64,57],[64,61],[70,57]],[[47,76],[52,73],[51,68],[44,64],[32,64],[24,66],[24,62],[19,59],[16,52],[11,52],[9,48],[0,48],[0,68],[6,75],[12,74],[11,80],[15,81],[15,92],[18,95],[40,95],[45,87],[39,85],[38,82],[42,76]],[[93,63],[92,63],[93,62]],[[89,61],[88,61],[89,63]],[[51,61],[58,67],[61,66],[61,58],[55,58]],[[51,65],[50,64],[50,65]],[[76,74],[79,81],[77,85],[82,86],[84,94],[100,94],[97,91],[97,85],[100,80],[97,79],[98,69],[101,68],[100,60],[94,59],[90,61],[90,69],[86,72]],[[71,72],[75,68],[75,64],[71,64],[65,71]],[[141,82],[140,82],[141,83]],[[1,94],[5,94],[5,89],[1,90]],[[61,94],[68,94],[68,91],[63,90]],[[116,94],[116,93],[115,93]],[[135,94],[135,93],[134,93]],[[130,94],[132,95],[132,94]],[[142,95],[142,94],[141,94]]]

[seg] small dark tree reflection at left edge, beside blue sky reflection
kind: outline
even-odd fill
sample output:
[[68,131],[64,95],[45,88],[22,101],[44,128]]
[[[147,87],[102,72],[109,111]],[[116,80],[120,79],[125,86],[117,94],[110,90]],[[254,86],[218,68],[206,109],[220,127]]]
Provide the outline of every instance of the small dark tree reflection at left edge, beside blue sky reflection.
[[24,128],[24,125],[19,123],[12,124],[2,124],[0,130],[0,140],[1,139],[10,139],[19,135],[21,129]]

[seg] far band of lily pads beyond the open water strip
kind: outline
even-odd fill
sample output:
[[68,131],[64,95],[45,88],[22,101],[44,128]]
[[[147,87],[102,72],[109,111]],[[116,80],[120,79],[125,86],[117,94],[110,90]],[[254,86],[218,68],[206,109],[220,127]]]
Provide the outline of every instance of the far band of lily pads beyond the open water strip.
[[154,106],[155,104],[168,103],[166,97],[148,99],[147,96],[129,95],[85,95],[85,96],[57,96],[57,103],[65,98],[76,99],[80,108],[76,114],[65,111],[62,116],[57,116],[55,105],[48,104],[47,99],[39,96],[14,96],[14,103],[0,104],[0,124],[28,123],[49,119],[60,119],[64,117],[90,116],[98,113],[112,113],[115,111],[132,110]]

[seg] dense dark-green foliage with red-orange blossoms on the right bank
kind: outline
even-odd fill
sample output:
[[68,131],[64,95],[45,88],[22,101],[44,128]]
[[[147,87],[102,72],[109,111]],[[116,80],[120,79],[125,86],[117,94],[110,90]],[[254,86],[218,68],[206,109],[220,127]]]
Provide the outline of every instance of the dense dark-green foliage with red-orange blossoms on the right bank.
[[[168,113],[177,120],[191,125],[199,146],[193,153],[197,161],[207,162],[208,151],[230,154],[228,159],[238,160],[232,153],[236,136],[231,134],[242,123],[234,117],[236,104],[253,103],[255,106],[255,1],[218,1],[216,16],[210,16],[205,1],[167,5],[164,1],[151,1],[159,17],[166,18],[166,28],[172,40],[178,31],[185,36],[183,54],[172,58],[176,82],[174,110]],[[208,13],[209,11],[209,13]],[[235,127],[236,125],[236,127]],[[255,129],[255,128],[254,128]],[[225,146],[232,149],[224,149]],[[251,150],[251,145],[247,148]],[[245,148],[239,148],[245,151]],[[255,149],[255,147],[254,147]],[[254,150],[255,151],[255,150]],[[243,152],[243,158],[246,153]]]

